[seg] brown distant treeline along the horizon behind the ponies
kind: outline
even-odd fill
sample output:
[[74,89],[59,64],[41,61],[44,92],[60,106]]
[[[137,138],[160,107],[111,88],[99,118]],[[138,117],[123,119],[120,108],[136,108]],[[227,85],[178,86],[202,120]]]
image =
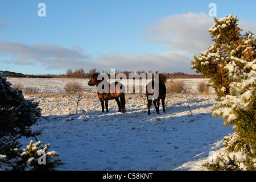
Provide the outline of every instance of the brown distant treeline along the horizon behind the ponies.
[[[89,72],[85,72],[83,68],[81,69],[75,69],[73,72],[72,69],[68,69],[67,72],[63,75],[24,75],[22,73],[15,73],[10,71],[0,71],[0,75],[3,75],[5,77],[24,77],[24,78],[91,78],[93,73],[106,73],[110,76],[110,72],[107,71],[98,71],[96,68],[90,69]],[[115,70],[115,74],[123,73],[126,75],[127,78],[129,78],[129,73],[138,73],[141,75],[141,73],[145,73],[146,75],[148,73],[152,73],[152,71],[119,71]],[[163,73],[166,75],[167,78],[203,78],[202,75],[189,75],[182,72],[175,72],[175,73]]]

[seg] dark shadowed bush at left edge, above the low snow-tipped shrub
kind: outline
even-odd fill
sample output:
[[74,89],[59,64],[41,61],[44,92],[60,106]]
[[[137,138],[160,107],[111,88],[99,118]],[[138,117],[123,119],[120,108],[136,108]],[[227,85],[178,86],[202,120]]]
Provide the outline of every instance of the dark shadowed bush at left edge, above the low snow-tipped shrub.
[[35,136],[30,130],[41,110],[38,102],[26,100],[22,91],[12,88],[11,83],[0,75],[0,138],[7,134]]

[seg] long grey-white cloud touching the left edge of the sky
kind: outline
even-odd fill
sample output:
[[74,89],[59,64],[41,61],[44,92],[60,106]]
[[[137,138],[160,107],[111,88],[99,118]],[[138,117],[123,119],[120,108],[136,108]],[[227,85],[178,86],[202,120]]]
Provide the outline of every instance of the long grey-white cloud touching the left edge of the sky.
[[2,64],[27,66],[37,63],[55,70],[77,68],[77,65],[83,65],[84,60],[89,59],[77,45],[68,49],[55,44],[27,45],[5,40],[0,40],[0,55],[11,57],[9,61],[1,61]]

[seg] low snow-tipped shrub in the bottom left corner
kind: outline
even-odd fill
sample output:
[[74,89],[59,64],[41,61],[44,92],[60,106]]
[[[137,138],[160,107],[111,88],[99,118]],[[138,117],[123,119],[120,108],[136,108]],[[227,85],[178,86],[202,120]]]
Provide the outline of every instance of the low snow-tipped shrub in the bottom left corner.
[[[0,171],[39,171],[53,170],[63,164],[55,151],[47,152],[49,144],[39,142],[20,150],[19,136],[5,136],[0,140]],[[45,154],[45,155],[44,155]],[[44,156],[43,156],[44,155]]]

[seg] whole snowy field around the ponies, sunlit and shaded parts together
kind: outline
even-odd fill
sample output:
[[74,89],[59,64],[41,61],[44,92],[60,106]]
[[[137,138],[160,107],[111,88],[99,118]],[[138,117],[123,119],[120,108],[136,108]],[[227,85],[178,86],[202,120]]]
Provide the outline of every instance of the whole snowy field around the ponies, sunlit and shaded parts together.
[[[232,133],[221,118],[213,118],[216,104],[213,90],[199,94],[196,86],[203,79],[180,79],[191,87],[189,106],[184,94],[167,94],[166,113],[160,115],[147,106],[140,94],[126,94],[126,113],[118,113],[114,100],[109,113],[101,113],[96,86],[88,80],[64,78],[7,78],[14,85],[34,86],[39,93],[63,93],[71,80],[81,82],[88,96],[79,104],[79,114],[67,97],[25,96],[39,101],[43,117],[33,131],[49,143],[65,163],[57,170],[205,170],[210,151],[222,147],[222,138]],[[26,148],[31,138],[23,138]]]

